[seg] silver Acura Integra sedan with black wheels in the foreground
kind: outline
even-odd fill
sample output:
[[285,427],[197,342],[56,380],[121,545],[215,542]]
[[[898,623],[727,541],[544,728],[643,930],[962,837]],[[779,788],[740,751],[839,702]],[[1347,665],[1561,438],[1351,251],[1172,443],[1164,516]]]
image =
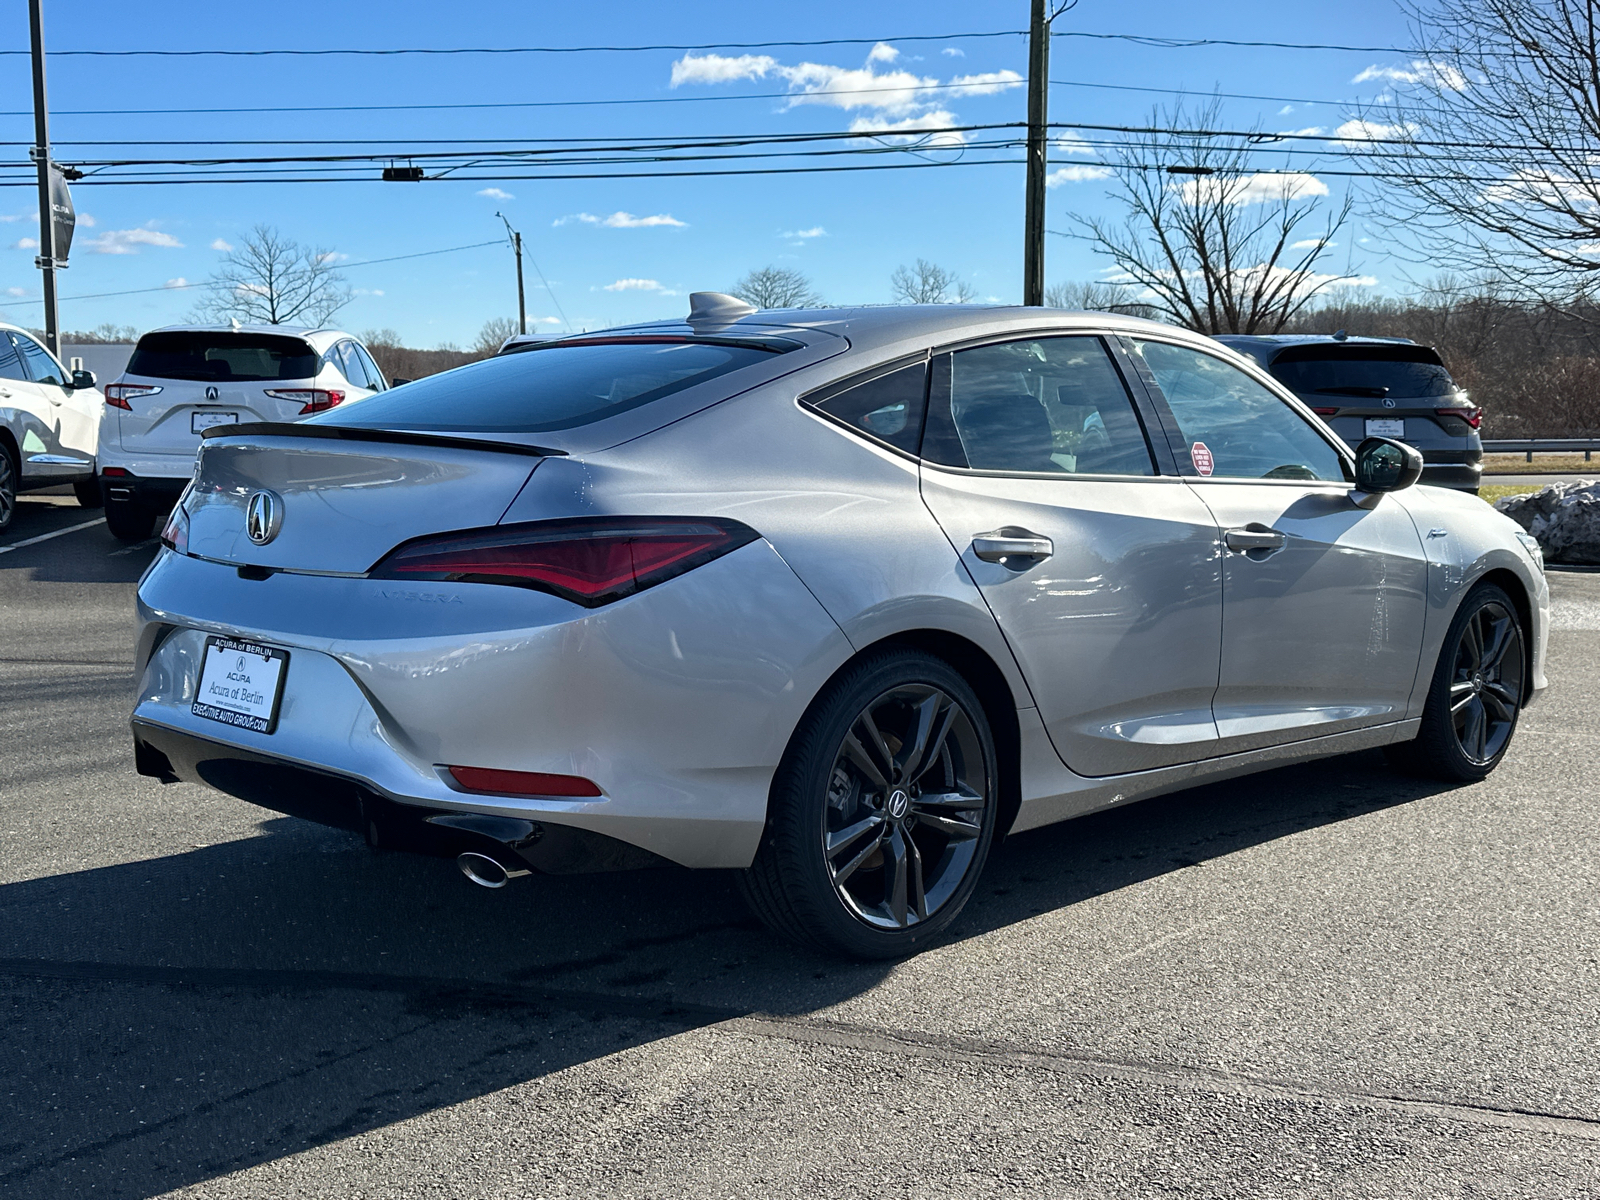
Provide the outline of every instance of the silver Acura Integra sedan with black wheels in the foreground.
[[742,872],[864,957],[997,837],[1544,688],[1538,546],[1250,360],[1046,309],[755,312],[208,430],[139,586],[138,768],[490,886]]

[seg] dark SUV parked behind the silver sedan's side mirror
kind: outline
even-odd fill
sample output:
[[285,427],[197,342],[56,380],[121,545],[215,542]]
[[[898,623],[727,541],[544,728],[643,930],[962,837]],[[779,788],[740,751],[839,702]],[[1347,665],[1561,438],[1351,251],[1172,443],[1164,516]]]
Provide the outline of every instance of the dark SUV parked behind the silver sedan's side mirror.
[[1438,350],[1410,338],[1218,334],[1310,405],[1352,446],[1394,437],[1422,451],[1422,482],[1477,494],[1483,411],[1456,387]]

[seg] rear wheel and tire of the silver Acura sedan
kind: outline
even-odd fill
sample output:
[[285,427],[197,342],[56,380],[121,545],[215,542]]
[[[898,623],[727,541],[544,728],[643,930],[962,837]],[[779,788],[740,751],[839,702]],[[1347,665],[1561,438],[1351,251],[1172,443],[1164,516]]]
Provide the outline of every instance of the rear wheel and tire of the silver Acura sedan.
[[971,898],[998,802],[994,734],[966,680],[920,651],[867,654],[795,730],[741,891],[800,944],[914,954]]

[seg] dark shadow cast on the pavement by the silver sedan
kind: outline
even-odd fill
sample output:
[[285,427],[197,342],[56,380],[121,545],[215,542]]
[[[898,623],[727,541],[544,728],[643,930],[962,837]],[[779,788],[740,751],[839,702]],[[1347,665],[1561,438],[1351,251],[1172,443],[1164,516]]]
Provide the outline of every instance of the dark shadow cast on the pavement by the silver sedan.
[[[1022,834],[952,941],[1438,790],[1363,754]],[[267,818],[0,886],[0,1194],[150,1197],[530,1080],[586,1106],[550,1077],[891,970],[773,939],[726,874],[520,885]]]

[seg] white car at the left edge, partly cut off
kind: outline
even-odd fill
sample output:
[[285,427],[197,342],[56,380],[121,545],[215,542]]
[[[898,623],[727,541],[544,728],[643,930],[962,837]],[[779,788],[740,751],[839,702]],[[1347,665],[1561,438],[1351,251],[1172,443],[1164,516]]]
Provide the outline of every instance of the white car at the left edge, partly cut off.
[[99,410],[91,371],[69,373],[27,330],[0,323],[0,530],[19,491],[70,483],[80,504],[99,507]]

